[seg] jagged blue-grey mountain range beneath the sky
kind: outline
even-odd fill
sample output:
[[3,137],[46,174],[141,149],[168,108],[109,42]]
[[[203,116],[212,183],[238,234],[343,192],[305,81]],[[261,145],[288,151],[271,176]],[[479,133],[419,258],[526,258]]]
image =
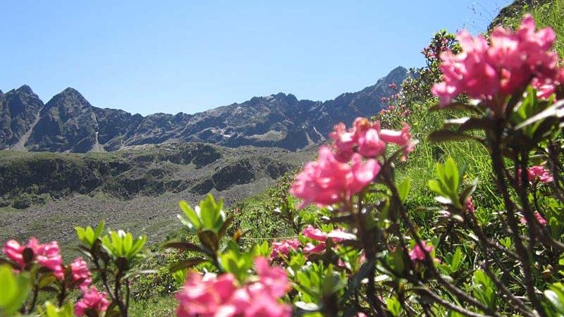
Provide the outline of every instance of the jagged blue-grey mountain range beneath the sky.
[[278,93],[201,113],[145,117],[92,106],[73,88],[43,104],[23,86],[0,92],[0,149],[85,153],[181,140],[295,151],[323,141],[340,121],[377,113],[385,106],[381,97],[395,93],[388,85],[406,76],[407,70],[398,67],[375,85],[329,101]]

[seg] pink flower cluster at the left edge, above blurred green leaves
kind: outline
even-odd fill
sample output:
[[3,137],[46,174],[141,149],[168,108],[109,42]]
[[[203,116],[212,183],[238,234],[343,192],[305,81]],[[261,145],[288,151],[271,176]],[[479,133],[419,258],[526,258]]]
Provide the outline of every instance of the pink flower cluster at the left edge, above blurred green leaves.
[[63,279],[64,269],[63,269],[63,258],[61,257],[61,249],[56,241],[50,242],[48,244],[39,244],[39,241],[35,237],[30,238],[29,242],[25,245],[21,245],[16,240],[9,240],[4,244],[4,254],[8,256],[13,262],[20,266],[20,269],[24,269],[28,264],[26,259],[24,259],[25,249],[30,249],[32,251],[32,258],[30,262],[38,263],[44,268],[48,268],[53,271],[56,278],[59,280]]

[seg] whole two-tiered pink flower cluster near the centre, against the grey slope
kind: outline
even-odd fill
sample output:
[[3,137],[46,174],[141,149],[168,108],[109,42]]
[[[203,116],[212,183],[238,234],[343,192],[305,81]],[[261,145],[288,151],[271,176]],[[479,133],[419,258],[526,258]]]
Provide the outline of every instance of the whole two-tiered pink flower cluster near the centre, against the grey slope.
[[386,143],[402,147],[404,159],[414,146],[409,125],[400,131],[386,130],[367,118],[357,118],[349,130],[339,123],[329,137],[333,149],[320,147],[317,161],[307,163],[290,188],[291,194],[302,199],[300,208],[348,201],[380,172],[376,158],[384,154]]

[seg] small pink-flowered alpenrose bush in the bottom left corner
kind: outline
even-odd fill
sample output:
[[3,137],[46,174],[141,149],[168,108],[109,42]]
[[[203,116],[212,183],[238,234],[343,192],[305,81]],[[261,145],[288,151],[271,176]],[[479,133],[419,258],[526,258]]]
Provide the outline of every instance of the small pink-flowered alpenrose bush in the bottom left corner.
[[[104,223],[96,229],[77,227],[80,251],[89,260],[105,292],[92,285],[87,261],[78,257],[64,265],[56,241],[41,244],[35,237],[22,245],[9,240],[0,259],[0,316],[39,313],[47,317],[128,316],[130,278],[144,256],[145,237],[129,232],[109,231]],[[49,297],[42,305],[39,294]],[[78,299],[77,299],[78,293]]]

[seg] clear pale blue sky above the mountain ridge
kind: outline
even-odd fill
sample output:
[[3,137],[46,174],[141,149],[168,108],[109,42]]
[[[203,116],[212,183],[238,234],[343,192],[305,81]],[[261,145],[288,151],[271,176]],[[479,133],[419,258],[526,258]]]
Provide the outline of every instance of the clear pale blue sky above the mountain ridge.
[[483,32],[508,0],[0,0],[0,89],[195,113],[276,92],[326,100],[420,66],[434,31]]

